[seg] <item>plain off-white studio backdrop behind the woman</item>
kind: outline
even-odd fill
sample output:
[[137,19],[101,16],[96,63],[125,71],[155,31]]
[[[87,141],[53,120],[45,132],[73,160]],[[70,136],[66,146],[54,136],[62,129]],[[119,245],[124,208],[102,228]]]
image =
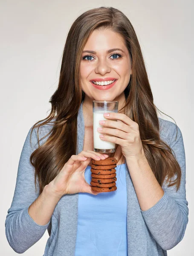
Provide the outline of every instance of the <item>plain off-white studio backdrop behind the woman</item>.
[[[79,15],[100,6],[113,6],[129,18],[142,48],[154,103],[173,117],[182,131],[189,222],[184,238],[168,250],[168,256],[194,255],[192,0],[0,1],[0,255],[17,254],[5,235],[7,210],[12,203],[27,133],[35,122],[49,114],[49,99],[58,86],[67,33]],[[165,115],[163,118],[174,122]],[[48,237],[46,230],[23,255],[43,255]]]

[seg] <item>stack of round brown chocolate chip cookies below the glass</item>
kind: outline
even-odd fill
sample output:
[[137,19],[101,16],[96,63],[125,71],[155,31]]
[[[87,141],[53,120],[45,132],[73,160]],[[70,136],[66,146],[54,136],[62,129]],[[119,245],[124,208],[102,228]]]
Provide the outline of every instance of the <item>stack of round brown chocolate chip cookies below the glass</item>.
[[94,191],[110,192],[115,191],[116,187],[116,164],[114,157],[105,160],[92,160],[90,185]]

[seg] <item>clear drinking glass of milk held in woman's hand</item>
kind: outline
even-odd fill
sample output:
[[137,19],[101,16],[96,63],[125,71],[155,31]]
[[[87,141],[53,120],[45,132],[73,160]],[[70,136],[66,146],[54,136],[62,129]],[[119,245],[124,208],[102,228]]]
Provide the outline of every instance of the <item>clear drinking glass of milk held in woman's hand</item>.
[[[94,151],[100,153],[112,153],[115,152],[115,143],[101,140],[97,131],[98,127],[105,127],[99,124],[100,120],[107,120],[104,117],[104,113],[116,112],[118,113],[118,101],[107,101],[107,100],[93,100],[93,143]],[[110,119],[109,119],[110,120]],[[111,119],[112,120],[112,119]],[[114,119],[113,121],[117,121]],[[114,128],[111,128],[114,129]],[[112,136],[108,134],[108,136]]]

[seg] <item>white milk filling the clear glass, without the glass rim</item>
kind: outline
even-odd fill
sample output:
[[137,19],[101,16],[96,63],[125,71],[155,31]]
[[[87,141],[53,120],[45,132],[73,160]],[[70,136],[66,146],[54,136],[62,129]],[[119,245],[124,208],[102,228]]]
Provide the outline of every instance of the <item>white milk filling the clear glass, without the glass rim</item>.
[[[97,131],[98,127],[104,127],[103,125],[99,124],[99,121],[100,120],[107,120],[104,117],[104,113],[106,113],[106,112],[107,111],[96,111],[96,112],[93,112],[94,148],[97,148],[97,149],[112,149],[112,148],[115,148],[115,143],[112,143],[112,142],[109,142],[109,141],[105,141],[105,140],[101,140],[99,135],[102,134],[102,133]],[[113,111],[108,111],[108,112],[113,112]],[[113,135],[108,134],[108,136],[113,136]]]

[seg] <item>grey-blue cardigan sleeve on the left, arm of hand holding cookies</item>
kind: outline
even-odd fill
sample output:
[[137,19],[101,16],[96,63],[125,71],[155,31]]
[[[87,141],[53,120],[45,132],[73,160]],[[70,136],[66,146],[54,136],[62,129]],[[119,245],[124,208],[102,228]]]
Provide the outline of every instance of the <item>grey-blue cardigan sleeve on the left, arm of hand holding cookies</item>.
[[[36,128],[35,128],[36,129]],[[30,163],[30,155],[35,151],[37,134],[32,132],[32,144],[30,143],[30,128],[20,155],[17,180],[11,207],[8,210],[5,221],[6,238],[9,245],[17,253],[24,253],[35,244],[45,233],[49,223],[37,224],[29,215],[29,206],[38,198],[39,186],[35,192],[35,169]]]

